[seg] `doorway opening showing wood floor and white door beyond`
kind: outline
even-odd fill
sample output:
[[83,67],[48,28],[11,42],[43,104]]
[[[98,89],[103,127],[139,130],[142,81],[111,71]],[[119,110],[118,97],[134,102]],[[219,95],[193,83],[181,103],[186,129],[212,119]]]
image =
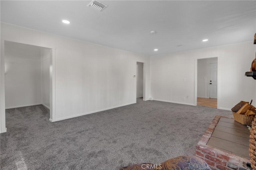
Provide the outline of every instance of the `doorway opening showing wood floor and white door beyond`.
[[197,60],[197,105],[217,108],[218,57]]

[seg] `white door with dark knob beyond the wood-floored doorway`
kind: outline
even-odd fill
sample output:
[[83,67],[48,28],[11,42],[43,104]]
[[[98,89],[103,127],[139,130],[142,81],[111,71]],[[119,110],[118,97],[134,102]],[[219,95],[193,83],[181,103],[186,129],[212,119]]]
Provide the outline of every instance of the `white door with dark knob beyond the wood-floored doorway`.
[[210,98],[217,99],[218,63],[210,63]]

